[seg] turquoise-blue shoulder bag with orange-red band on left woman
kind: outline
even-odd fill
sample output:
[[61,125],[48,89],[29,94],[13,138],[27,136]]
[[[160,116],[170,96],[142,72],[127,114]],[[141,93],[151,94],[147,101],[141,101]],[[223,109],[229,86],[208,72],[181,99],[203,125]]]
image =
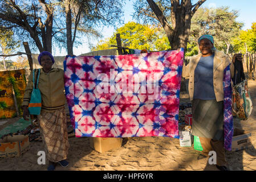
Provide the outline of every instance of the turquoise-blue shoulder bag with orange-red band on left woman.
[[38,76],[37,76],[36,85],[35,85],[35,69],[33,69],[33,90],[32,90],[30,102],[29,102],[29,113],[32,115],[39,115],[42,107],[41,92],[38,89],[40,69],[38,69],[37,75]]

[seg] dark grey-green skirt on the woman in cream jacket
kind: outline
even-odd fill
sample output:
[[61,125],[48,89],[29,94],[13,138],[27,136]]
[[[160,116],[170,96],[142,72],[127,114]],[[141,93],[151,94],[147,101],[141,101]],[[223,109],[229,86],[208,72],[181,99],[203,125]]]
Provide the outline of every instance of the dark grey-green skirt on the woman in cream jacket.
[[216,100],[192,101],[192,135],[224,140],[224,102]]

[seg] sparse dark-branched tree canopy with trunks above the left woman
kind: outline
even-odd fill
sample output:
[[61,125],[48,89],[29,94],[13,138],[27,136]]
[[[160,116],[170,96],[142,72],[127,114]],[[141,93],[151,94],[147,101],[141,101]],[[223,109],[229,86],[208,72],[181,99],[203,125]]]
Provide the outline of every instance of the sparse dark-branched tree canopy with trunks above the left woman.
[[3,0],[0,3],[0,27],[12,28],[18,39],[29,42],[40,52],[52,52],[52,43],[72,52],[76,32],[99,36],[95,26],[120,22],[123,16],[121,2]]

